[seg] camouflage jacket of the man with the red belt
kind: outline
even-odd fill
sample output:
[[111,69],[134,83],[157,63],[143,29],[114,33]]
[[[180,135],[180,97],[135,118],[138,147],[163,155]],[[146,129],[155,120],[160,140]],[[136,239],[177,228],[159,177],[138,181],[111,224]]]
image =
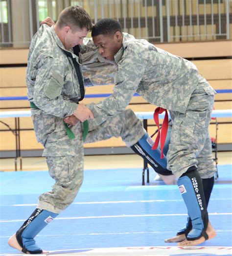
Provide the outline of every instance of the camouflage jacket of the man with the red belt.
[[97,104],[88,105],[96,123],[124,110],[135,92],[151,104],[180,113],[186,112],[200,80],[205,83],[207,93],[214,94],[190,61],[127,33],[123,33],[122,45],[115,55],[117,73],[113,94]]

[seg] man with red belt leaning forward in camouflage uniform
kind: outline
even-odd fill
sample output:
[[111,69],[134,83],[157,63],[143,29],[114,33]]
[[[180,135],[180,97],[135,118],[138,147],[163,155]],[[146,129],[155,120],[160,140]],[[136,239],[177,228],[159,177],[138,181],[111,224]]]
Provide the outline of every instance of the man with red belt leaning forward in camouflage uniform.
[[[212,157],[205,156],[204,151],[211,148],[208,127],[215,91],[194,64],[122,33],[120,24],[113,19],[98,21],[92,36],[99,54],[117,67],[113,94],[88,105],[95,125],[121,113],[135,92],[149,103],[169,110],[173,127],[167,168],[178,178],[192,225],[186,240],[178,240],[179,237],[176,241],[188,246],[213,238],[216,233],[209,223],[201,177],[212,184],[215,167]],[[142,142],[139,140],[139,145]],[[197,170],[199,159],[207,163],[201,177]],[[183,232],[185,235],[186,229],[180,231]]]

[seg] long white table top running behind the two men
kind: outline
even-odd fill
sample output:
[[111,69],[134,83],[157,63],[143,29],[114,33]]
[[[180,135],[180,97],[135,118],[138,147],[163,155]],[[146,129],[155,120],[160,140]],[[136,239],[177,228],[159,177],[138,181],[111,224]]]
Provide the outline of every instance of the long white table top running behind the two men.
[[[153,119],[153,112],[135,112],[135,114],[141,119]],[[1,111],[0,118],[6,117],[28,117],[31,116],[31,111]],[[164,114],[160,114],[160,118],[163,118]],[[232,117],[232,109],[213,110],[212,117]]]

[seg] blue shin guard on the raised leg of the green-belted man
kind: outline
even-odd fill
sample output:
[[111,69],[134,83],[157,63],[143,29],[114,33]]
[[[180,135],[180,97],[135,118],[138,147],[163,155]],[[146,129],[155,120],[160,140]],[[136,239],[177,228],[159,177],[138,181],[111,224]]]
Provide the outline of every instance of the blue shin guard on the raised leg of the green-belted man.
[[141,156],[152,168],[162,175],[171,175],[172,172],[167,170],[167,158],[161,159],[160,149],[153,150],[154,141],[145,133],[145,135],[131,147],[131,149]]

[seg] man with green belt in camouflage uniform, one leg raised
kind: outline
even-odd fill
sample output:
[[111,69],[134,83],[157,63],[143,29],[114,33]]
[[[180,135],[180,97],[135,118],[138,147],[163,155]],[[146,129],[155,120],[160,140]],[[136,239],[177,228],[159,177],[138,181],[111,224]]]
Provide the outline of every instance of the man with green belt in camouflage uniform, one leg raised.
[[[91,28],[92,20],[85,10],[70,6],[62,11],[54,26],[42,25],[30,45],[26,71],[28,99],[36,138],[45,147],[43,156],[55,184],[39,197],[37,208],[8,240],[10,246],[23,253],[45,253],[35,243],[35,236],[72,203],[82,185],[85,122],[80,121],[89,119],[86,143],[121,137],[130,147],[145,134],[141,120],[131,110],[96,126],[91,120],[93,113],[78,103],[85,90],[80,63],[94,62],[98,55],[97,51],[92,53],[93,44],[89,46],[88,40],[86,46],[79,47]],[[93,83],[97,81],[97,72],[98,68]]]

